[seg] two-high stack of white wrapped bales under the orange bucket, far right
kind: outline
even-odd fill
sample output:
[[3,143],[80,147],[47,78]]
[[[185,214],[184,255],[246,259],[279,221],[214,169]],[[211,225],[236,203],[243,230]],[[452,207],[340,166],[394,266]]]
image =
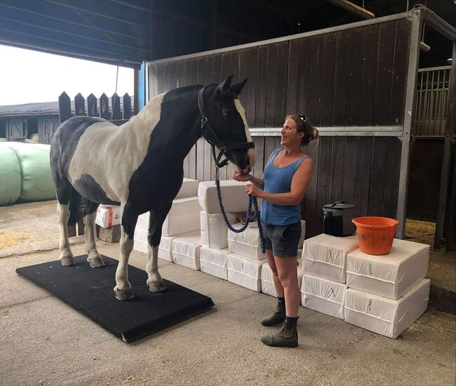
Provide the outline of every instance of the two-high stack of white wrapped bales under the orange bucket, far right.
[[397,338],[427,310],[428,260],[428,245],[398,239],[389,255],[349,253],[345,321]]

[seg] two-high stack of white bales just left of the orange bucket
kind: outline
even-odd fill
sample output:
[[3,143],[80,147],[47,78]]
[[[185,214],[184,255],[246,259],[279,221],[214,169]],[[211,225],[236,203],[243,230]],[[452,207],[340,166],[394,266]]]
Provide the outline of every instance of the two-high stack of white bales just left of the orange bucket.
[[347,255],[358,248],[358,236],[318,234],[304,241],[301,303],[311,310],[344,319]]

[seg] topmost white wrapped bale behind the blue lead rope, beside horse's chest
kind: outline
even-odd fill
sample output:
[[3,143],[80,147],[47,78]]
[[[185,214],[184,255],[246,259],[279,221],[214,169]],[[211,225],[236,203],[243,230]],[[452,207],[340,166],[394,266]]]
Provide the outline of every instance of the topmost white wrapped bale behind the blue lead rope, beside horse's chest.
[[[246,213],[248,207],[248,196],[246,185],[248,182],[235,180],[220,181],[220,192],[224,211],[226,213]],[[198,187],[199,204],[206,213],[220,213],[217,199],[217,188],[214,181],[203,181]],[[260,200],[258,201],[260,207]]]

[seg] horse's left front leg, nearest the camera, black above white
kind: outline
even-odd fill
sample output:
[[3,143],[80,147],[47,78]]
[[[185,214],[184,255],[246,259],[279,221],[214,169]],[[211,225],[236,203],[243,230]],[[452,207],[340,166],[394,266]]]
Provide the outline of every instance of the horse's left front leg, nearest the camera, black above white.
[[133,293],[130,282],[128,281],[128,258],[133,250],[133,235],[135,234],[138,215],[132,213],[128,203],[122,203],[121,218],[121,254],[119,265],[117,265],[116,269],[116,286],[114,287],[114,293],[116,293],[116,298],[119,300],[129,300],[135,297],[135,293]]

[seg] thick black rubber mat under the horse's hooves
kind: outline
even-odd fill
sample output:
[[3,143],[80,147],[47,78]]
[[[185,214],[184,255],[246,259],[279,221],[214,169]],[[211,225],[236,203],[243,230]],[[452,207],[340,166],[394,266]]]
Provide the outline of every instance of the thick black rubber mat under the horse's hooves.
[[125,342],[133,342],[207,310],[213,301],[201,293],[165,280],[168,290],[152,293],[147,273],[128,265],[128,280],[135,292],[132,300],[116,300],[117,260],[103,256],[105,267],[90,268],[87,255],[74,258],[76,265],[60,261],[16,269],[20,276],[63,300]]

